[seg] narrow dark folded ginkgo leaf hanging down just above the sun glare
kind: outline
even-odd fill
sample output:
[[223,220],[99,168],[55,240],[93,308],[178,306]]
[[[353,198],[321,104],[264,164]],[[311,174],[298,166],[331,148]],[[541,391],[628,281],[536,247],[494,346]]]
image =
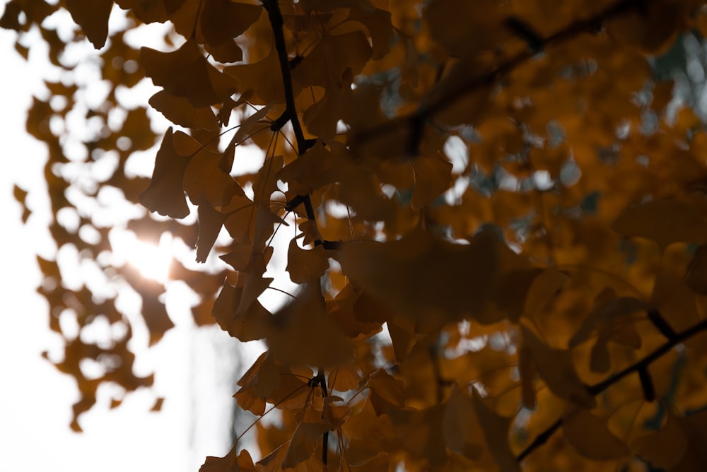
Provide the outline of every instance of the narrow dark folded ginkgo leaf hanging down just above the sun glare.
[[182,182],[189,165],[189,157],[175,152],[172,128],[165,132],[152,174],[150,186],[140,194],[140,203],[150,211],[171,218],[185,218],[189,207]]

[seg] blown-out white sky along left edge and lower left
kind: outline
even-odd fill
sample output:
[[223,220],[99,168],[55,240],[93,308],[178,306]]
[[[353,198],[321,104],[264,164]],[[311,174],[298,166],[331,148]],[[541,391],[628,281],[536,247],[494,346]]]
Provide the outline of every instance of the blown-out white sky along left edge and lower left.
[[[107,406],[115,391],[100,390],[98,405],[80,418],[84,432],[69,429],[77,391],[70,377],[41,357],[45,350],[60,351],[62,341],[49,331],[47,303],[35,293],[35,254],[52,256],[45,249],[52,247],[45,149],[25,134],[42,71],[16,54],[14,37],[0,29],[0,471],[197,471],[206,455],[223,455],[230,447],[235,384],[228,358],[237,341],[218,329],[180,322],[188,319],[188,307],[170,307],[177,327],[138,353],[136,373],[155,372],[155,387],[129,394],[113,410]],[[27,225],[12,196],[14,183],[30,191]],[[162,411],[149,413],[157,396],[165,397]]]

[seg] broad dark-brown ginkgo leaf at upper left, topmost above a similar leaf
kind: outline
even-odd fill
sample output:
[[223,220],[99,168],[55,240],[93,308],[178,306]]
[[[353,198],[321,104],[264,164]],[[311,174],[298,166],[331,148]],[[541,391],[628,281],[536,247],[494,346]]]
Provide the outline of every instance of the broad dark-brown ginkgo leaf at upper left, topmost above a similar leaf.
[[223,102],[235,92],[233,79],[209,64],[194,41],[174,52],[140,49],[140,63],[155,85],[175,97],[189,100],[194,107]]

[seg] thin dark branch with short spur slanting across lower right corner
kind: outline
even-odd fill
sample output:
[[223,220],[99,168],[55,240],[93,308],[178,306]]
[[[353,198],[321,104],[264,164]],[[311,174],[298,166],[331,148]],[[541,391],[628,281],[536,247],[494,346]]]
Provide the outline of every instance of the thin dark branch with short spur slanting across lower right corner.
[[[597,396],[598,394],[601,394],[606,391],[612,385],[619,383],[621,379],[624,379],[624,377],[636,373],[638,374],[639,379],[641,379],[641,386],[643,387],[643,394],[646,397],[646,400],[651,401],[650,396],[653,396],[653,398],[655,399],[655,391],[652,390],[652,383],[650,383],[650,387],[648,387],[648,382],[650,382],[650,377],[648,377],[648,366],[658,358],[662,357],[662,355],[665,355],[670,352],[670,350],[672,350],[672,348],[674,348],[678,344],[686,341],[687,339],[693,336],[696,336],[696,334],[699,334],[702,331],[707,331],[707,319],[703,319],[699,323],[694,324],[693,326],[689,327],[684,331],[679,331],[677,333],[673,332],[673,335],[668,338],[668,341],[666,343],[659,346],[652,353],[645,356],[645,358],[639,360],[635,364],[629,365],[629,367],[626,367],[624,370],[613,374],[607,379],[602,380],[602,382],[588,387],[590,393],[594,396]],[[547,440],[554,434],[554,432],[559,430],[561,426],[562,418],[559,418],[559,420],[557,420],[555,423],[552,423],[549,427],[547,427],[547,429],[537,435],[537,437],[535,437],[535,439],[533,439],[533,441],[528,444],[528,446],[523,449],[520,454],[518,454],[518,456],[516,457],[518,462],[525,459],[531,452],[533,452],[535,449],[547,442]]]

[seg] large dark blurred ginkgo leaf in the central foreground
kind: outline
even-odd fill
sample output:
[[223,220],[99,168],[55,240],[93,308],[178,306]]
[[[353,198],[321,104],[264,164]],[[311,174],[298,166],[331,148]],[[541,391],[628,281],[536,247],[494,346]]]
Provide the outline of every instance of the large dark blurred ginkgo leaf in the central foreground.
[[524,266],[491,232],[452,244],[423,230],[394,242],[348,243],[335,256],[366,293],[418,319],[443,323],[472,314],[482,323],[503,318],[493,306],[497,278]]

